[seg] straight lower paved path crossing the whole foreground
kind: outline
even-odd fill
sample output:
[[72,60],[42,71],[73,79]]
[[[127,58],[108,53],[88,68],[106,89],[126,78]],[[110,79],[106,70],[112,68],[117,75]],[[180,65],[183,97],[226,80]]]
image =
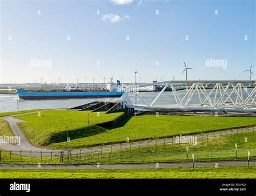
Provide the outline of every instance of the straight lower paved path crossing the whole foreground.
[[[216,161],[216,162],[195,162],[194,167],[214,167],[215,163],[218,166],[247,166],[247,160],[238,161]],[[157,163],[131,163],[131,164],[84,164],[84,165],[41,165],[40,169],[62,169],[62,170],[81,170],[81,169],[149,169],[156,168]],[[193,167],[191,162],[179,163],[159,163],[159,168],[173,168],[173,167]],[[256,160],[250,160],[250,165],[256,165]],[[1,169],[39,169],[38,165],[34,164],[0,164]]]

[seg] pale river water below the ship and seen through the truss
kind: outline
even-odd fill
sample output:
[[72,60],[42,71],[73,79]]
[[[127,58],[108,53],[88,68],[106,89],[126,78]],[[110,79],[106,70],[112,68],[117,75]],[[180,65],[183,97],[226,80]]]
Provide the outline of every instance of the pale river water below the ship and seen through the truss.
[[[253,88],[248,89],[248,93],[252,91]],[[206,89],[209,94],[212,89]],[[232,89],[228,89],[227,93],[230,94]],[[159,92],[140,92],[139,95],[143,97],[147,103],[151,103]],[[186,94],[186,90],[178,90],[177,94],[183,97]],[[201,92],[200,92],[201,94]],[[136,100],[134,93],[130,93],[130,98],[132,101]],[[214,100],[215,94],[211,95],[211,100]],[[202,100],[205,100],[204,95],[201,94]],[[217,96],[218,100],[219,94]],[[226,96],[225,96],[226,97]],[[247,97],[247,93],[244,92],[244,97]],[[1,95],[0,94],[0,113],[6,111],[17,111],[19,110],[29,110],[29,109],[50,109],[50,108],[72,108],[80,106],[85,103],[90,103],[93,101],[106,101],[106,100],[117,100],[118,97],[114,98],[96,98],[96,99],[62,99],[62,100],[19,100],[17,95]],[[235,94],[232,94],[232,100],[235,102]],[[230,102],[230,100],[228,100]],[[159,97],[156,104],[175,104],[175,99],[172,92],[164,92]],[[194,93],[190,103],[199,103],[197,92]],[[208,102],[206,102],[208,103]],[[144,104],[140,99],[137,100],[137,104]]]

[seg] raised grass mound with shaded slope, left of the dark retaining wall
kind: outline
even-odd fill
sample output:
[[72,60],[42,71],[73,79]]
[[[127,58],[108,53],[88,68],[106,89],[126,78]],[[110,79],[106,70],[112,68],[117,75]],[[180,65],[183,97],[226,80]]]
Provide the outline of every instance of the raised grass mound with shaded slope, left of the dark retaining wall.
[[[40,116],[35,113],[17,116],[17,118],[27,121],[19,123],[19,127],[33,145],[47,146],[51,143],[66,142],[67,126],[68,135],[71,139],[100,135],[105,129],[95,124],[112,121],[124,112],[104,113],[105,111],[91,113],[91,111],[59,110],[44,111]],[[88,116],[90,125],[88,125]],[[73,140],[72,146],[73,148],[77,146]],[[58,149],[61,148],[64,146],[59,146]]]

